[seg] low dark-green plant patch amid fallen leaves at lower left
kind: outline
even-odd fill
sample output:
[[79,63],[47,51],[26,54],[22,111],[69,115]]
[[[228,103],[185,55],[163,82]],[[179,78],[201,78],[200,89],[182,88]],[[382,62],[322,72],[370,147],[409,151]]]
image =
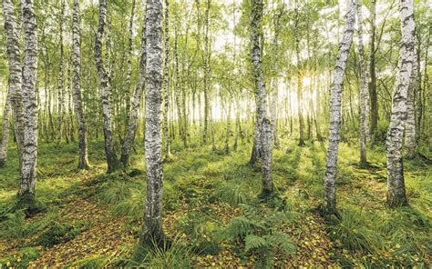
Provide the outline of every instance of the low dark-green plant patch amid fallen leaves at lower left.
[[74,239],[77,234],[81,234],[87,230],[88,224],[83,222],[75,222],[73,224],[54,223],[47,230],[40,234],[34,244],[51,247],[56,244],[65,243]]

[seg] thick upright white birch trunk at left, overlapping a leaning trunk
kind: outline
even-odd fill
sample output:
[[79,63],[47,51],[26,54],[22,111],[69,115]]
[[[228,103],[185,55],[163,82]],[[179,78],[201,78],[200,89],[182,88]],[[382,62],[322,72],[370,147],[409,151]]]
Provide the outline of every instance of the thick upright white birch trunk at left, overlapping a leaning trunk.
[[24,25],[24,148],[18,196],[35,195],[37,158],[37,26],[33,0],[21,2]]

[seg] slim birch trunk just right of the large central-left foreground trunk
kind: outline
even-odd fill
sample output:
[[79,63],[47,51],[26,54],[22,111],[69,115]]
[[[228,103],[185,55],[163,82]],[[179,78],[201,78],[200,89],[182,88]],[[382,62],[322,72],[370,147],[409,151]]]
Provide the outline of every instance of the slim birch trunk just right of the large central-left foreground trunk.
[[[165,0],[165,61],[163,63],[163,138],[164,138],[164,159],[170,160],[170,134],[168,130],[169,111],[170,111],[170,1]],[[195,109],[193,109],[195,112]],[[193,117],[195,120],[195,117]]]

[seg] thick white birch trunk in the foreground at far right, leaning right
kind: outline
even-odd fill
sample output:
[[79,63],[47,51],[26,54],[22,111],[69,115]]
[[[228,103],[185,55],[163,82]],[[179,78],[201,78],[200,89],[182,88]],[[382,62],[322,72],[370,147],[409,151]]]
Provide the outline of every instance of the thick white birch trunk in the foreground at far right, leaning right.
[[409,80],[415,62],[414,53],[414,3],[400,0],[402,39],[399,53],[399,73],[393,92],[392,115],[387,130],[387,204],[396,207],[407,204],[405,193],[404,164],[402,159],[402,137],[406,122],[406,97]]

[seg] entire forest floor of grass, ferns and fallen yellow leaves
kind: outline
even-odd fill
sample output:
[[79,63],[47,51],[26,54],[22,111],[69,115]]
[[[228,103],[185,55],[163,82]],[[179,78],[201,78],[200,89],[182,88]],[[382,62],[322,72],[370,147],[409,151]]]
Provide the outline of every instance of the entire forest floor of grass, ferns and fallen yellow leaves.
[[[172,147],[164,164],[165,251],[136,245],[145,201],[144,157],[133,170],[106,175],[103,144],[90,143],[87,171],[77,171],[77,148],[42,144],[36,195],[46,213],[6,214],[0,225],[0,268],[99,268],[141,264],[170,267],[382,267],[431,262],[432,167],[406,162],[409,207],[386,208],[385,154],[369,152],[359,167],[357,149],[341,144],[337,199],[342,221],[324,220],[324,144],[294,141],[273,154],[276,194],[261,201],[259,165],[250,165],[250,144],[236,152]],[[141,148],[139,146],[138,148]],[[0,212],[14,203],[18,171],[15,148],[0,174]],[[285,238],[278,241],[272,235]],[[272,239],[273,238],[273,239]]]

